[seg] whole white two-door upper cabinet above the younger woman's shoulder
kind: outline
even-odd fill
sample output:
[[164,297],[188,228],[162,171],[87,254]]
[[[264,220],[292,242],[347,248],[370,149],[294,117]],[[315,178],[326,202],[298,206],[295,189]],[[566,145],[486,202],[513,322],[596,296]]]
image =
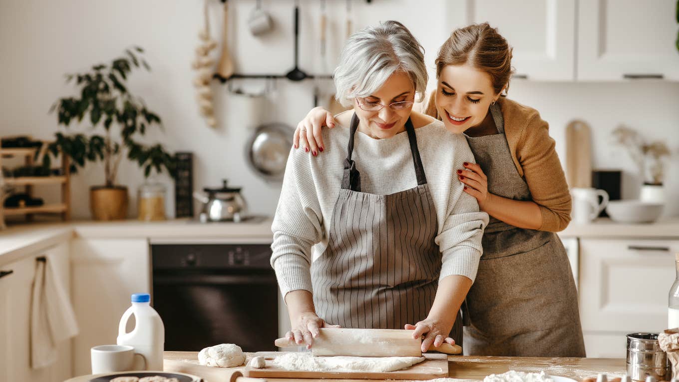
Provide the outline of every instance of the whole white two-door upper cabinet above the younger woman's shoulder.
[[676,0],[455,0],[447,6],[451,31],[485,21],[498,28],[514,48],[517,78],[679,80]]

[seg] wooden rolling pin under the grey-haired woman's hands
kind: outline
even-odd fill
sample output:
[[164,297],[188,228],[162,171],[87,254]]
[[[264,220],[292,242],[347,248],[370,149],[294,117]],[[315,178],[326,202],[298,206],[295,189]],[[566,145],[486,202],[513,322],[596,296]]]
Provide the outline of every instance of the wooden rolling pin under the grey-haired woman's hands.
[[[295,341],[278,338],[278,347],[299,347]],[[421,357],[422,338],[414,339],[412,330],[324,328],[314,338],[314,355],[354,355],[356,357]],[[462,353],[458,345],[444,343],[430,349],[447,354]]]

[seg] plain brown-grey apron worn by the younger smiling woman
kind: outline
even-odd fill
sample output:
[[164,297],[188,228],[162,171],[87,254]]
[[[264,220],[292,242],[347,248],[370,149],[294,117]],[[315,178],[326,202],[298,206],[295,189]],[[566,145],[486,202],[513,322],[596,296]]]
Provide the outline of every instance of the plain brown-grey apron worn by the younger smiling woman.
[[[514,166],[499,105],[490,108],[498,134],[467,137],[488,176],[488,192],[530,201]],[[517,228],[490,217],[483,256],[463,305],[465,353],[584,357],[578,295],[566,249],[553,232]]]

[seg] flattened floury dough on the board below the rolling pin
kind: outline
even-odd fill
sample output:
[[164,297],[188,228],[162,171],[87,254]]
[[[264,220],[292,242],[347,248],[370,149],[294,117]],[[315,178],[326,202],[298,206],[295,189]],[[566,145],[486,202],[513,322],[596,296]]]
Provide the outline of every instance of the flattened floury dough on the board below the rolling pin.
[[408,368],[424,357],[314,357],[312,353],[289,352],[274,361],[276,366],[297,371],[375,371],[387,372]]

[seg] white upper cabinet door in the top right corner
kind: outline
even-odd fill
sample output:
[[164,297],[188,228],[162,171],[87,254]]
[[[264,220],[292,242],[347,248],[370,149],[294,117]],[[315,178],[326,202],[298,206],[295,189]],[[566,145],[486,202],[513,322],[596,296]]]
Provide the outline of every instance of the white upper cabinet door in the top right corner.
[[676,0],[581,0],[578,80],[679,80]]

